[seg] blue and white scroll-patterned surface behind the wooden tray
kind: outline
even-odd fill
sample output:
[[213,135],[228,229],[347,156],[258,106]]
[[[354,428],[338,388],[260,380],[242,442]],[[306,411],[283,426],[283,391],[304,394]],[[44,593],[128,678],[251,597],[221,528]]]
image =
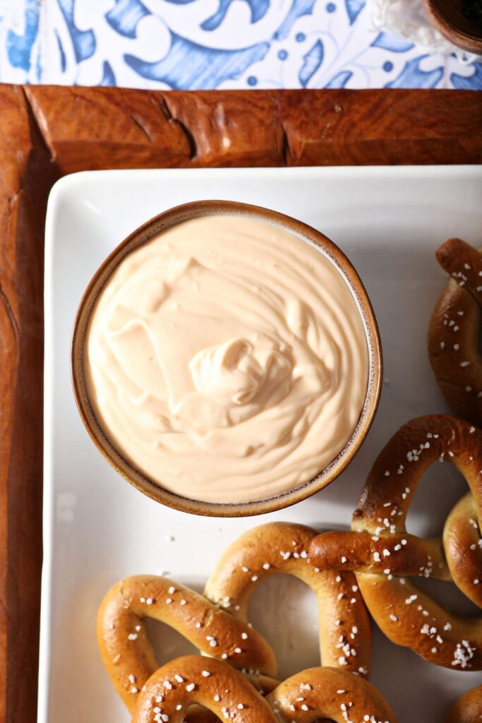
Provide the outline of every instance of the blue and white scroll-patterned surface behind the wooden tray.
[[482,89],[482,62],[376,30],[365,0],[0,0],[0,81]]

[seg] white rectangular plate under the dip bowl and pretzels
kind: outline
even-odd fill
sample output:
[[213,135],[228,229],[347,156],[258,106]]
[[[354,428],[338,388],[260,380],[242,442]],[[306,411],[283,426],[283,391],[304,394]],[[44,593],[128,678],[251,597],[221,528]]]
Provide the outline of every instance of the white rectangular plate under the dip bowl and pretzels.
[[[330,236],[356,265],[384,347],[384,389],[363,448],[310,500],[261,518],[198,518],[147,499],[108,466],[74,404],[69,344],[82,292],[100,262],[140,223],[178,203],[229,199],[300,218]],[[46,222],[44,565],[40,723],[121,723],[129,714],[103,669],[95,614],[119,578],[168,573],[199,591],[220,551],[272,520],[348,528],[366,473],[387,437],[413,416],[446,411],[426,353],[431,310],[445,277],[434,260],[449,236],[481,245],[482,168],[259,168],[95,171],[61,179]],[[465,482],[434,466],[416,493],[409,530],[435,535]],[[171,539],[171,537],[173,539]],[[473,611],[447,583],[429,588],[455,612]],[[319,664],[314,594],[279,576],[254,594],[251,622],[279,655],[280,675]],[[193,651],[152,625],[160,662]],[[400,723],[442,722],[480,673],[446,670],[392,645],[374,626],[372,682]]]

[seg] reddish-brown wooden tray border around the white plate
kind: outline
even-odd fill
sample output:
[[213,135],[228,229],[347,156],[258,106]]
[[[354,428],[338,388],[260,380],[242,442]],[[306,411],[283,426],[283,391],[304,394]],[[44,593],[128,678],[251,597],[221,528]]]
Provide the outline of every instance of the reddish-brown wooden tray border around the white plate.
[[482,93],[0,85],[0,154],[0,722],[33,723],[53,182],[98,168],[481,163]]

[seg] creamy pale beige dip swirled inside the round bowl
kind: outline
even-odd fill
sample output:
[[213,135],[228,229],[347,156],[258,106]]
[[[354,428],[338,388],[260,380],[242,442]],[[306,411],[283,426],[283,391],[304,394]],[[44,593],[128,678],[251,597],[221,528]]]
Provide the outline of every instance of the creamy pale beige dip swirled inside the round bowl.
[[247,216],[184,221],[128,254],[86,341],[104,433],[192,500],[263,500],[308,482],[350,440],[366,399],[366,332],[340,270]]

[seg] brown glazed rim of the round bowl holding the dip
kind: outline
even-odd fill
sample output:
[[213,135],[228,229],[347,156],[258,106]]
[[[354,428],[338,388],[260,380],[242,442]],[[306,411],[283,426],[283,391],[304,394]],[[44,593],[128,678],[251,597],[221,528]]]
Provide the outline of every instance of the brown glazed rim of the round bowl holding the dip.
[[[161,231],[165,231],[177,223],[189,221],[192,218],[218,214],[233,216],[249,215],[251,218],[256,218],[259,221],[281,226],[281,228],[284,228],[286,231],[291,231],[291,233],[298,236],[298,238],[310,241],[311,244],[321,247],[323,252],[332,260],[343,275],[356,299],[356,304],[358,305],[358,310],[363,320],[369,349],[369,382],[363,411],[356,428],[353,430],[353,435],[335,460],[333,460],[326,469],[320,471],[314,479],[309,480],[309,482],[304,482],[295,489],[283,492],[275,497],[269,497],[266,500],[235,504],[199,502],[181,497],[168,491],[168,489],[160,487],[159,484],[139,471],[133,463],[123,457],[119,449],[116,448],[116,445],[108,439],[108,436],[103,431],[90,404],[85,381],[84,351],[90,315],[92,309],[95,307],[95,302],[98,299],[100,291],[102,291],[108,282],[113,271],[116,270],[127,254],[142,246],[142,244],[145,244],[147,241],[150,241],[153,236],[157,236]],[[315,492],[319,492],[320,489],[326,487],[330,482],[333,482],[356,455],[365,439],[376,414],[382,388],[382,346],[374,311],[371,308],[371,303],[363,283],[361,283],[356,270],[350,261],[348,261],[347,257],[345,257],[345,254],[343,254],[330,239],[327,239],[326,236],[311,228],[311,226],[307,226],[306,223],[296,221],[296,219],[283,213],[233,201],[196,201],[176,206],[176,208],[171,208],[155,216],[155,218],[147,221],[147,223],[127,236],[106,258],[103,264],[100,265],[100,268],[98,268],[87,286],[84,296],[82,296],[74,322],[71,362],[74,396],[79,414],[82,417],[82,422],[84,422],[87,432],[89,432],[90,437],[92,437],[95,446],[111,466],[113,466],[127,482],[138,489],[139,492],[147,495],[147,497],[151,497],[152,500],[156,500],[163,505],[183,512],[212,517],[246,517],[280,510],[294,505],[296,502],[305,500],[306,497],[314,495]]]

